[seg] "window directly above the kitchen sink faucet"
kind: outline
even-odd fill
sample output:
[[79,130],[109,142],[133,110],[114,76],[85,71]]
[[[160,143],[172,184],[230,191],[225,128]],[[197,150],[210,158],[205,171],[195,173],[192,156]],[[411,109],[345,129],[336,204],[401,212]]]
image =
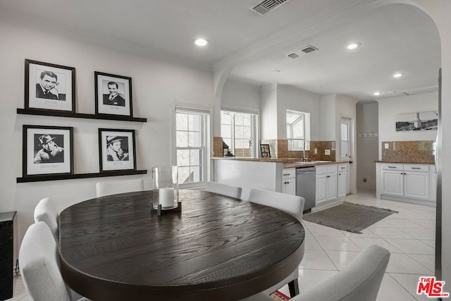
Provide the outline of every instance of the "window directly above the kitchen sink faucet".
[[285,113],[288,150],[309,149],[310,113],[286,110]]

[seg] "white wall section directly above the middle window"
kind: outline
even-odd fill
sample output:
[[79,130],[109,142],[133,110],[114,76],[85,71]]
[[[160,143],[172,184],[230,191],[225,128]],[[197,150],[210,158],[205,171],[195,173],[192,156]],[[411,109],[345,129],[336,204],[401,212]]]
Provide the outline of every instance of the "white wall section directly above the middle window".
[[260,92],[260,86],[249,85],[229,78],[223,87],[221,106],[258,112],[260,110]]

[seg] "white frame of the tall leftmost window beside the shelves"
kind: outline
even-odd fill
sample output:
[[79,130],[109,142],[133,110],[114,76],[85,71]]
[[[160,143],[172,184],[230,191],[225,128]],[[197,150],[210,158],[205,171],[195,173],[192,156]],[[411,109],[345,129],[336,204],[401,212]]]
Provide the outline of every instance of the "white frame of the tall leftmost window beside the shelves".
[[[211,133],[211,109],[202,106],[190,106],[185,104],[175,104],[173,106],[173,122],[171,123],[172,130],[172,165],[177,164],[177,150],[178,149],[200,149],[202,152],[201,164],[202,168],[200,172],[202,173],[202,180],[193,183],[179,183],[179,188],[199,188],[204,187],[209,179],[209,163],[210,163],[210,133]],[[201,130],[201,146],[200,147],[177,147],[177,113],[187,113],[204,116],[202,121]]]

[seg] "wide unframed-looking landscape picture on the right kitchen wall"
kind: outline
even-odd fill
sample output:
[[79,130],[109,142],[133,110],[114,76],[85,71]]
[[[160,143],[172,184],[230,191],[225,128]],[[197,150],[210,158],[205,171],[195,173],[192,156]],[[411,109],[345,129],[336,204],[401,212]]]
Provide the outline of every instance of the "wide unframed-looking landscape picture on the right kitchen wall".
[[438,111],[401,113],[396,115],[396,131],[437,130]]

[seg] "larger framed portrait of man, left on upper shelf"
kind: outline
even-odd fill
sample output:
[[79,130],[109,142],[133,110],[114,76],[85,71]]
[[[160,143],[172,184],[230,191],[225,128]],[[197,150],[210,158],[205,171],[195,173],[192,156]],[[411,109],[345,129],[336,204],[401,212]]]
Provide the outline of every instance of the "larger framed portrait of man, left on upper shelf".
[[75,113],[75,68],[25,59],[25,109]]

